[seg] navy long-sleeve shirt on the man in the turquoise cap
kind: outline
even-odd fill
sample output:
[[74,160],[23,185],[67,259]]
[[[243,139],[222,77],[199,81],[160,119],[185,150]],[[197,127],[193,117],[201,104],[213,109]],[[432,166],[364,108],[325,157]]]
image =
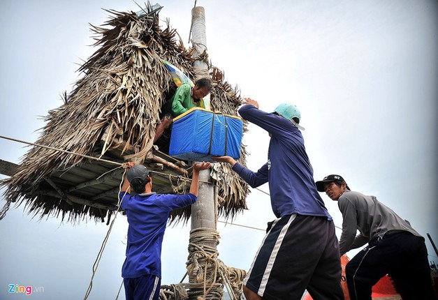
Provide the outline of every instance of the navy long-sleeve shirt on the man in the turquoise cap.
[[271,140],[268,162],[257,172],[236,163],[233,170],[251,187],[269,182],[272,211],[277,218],[292,213],[303,216],[332,217],[316,190],[313,169],[298,127],[284,117],[244,105],[240,116],[268,131]]

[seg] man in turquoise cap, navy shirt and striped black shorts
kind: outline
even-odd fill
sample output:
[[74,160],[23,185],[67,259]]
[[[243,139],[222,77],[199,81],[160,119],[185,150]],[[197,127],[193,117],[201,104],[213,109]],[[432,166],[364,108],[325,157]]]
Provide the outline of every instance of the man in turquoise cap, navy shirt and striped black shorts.
[[244,104],[240,116],[271,137],[268,162],[252,172],[229,156],[214,160],[231,164],[253,188],[269,182],[277,217],[244,278],[246,299],[299,300],[306,289],[313,299],[344,299],[335,225],[316,190],[298,108],[283,103],[270,113],[251,98]]

